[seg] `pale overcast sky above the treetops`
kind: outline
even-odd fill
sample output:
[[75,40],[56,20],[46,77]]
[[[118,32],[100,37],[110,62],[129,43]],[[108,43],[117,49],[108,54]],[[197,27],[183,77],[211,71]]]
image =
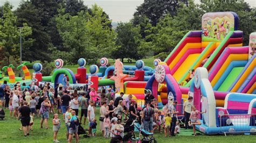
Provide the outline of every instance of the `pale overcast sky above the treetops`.
[[[3,5],[6,0],[0,0],[0,5]],[[14,9],[17,8],[21,0],[7,0]],[[109,15],[112,22],[129,22],[136,11],[137,6],[142,4],[144,0],[83,0],[84,4],[91,7],[92,4],[97,4]],[[195,1],[199,3],[199,0]],[[256,7],[256,0],[245,0],[251,6]]]

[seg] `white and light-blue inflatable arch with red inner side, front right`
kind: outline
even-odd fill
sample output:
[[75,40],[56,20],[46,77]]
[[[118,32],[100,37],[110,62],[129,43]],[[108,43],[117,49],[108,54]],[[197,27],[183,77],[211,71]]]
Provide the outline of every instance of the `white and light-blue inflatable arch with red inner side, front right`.
[[199,111],[206,110],[206,113],[202,115],[204,124],[208,127],[216,127],[216,101],[211,83],[208,80],[206,68],[200,67],[196,69],[188,96],[193,96],[194,106]]

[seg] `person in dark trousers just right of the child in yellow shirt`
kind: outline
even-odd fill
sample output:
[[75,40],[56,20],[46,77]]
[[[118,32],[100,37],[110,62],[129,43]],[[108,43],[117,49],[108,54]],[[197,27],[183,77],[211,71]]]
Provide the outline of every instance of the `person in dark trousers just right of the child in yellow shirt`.
[[172,123],[171,123],[171,127],[170,127],[170,131],[171,131],[172,136],[175,136],[174,130],[175,130],[176,121],[177,121],[177,113],[179,113],[179,111],[176,111],[177,103],[178,103],[177,101],[174,101],[172,103],[172,105],[169,106],[169,111],[170,111],[171,117],[172,117]]

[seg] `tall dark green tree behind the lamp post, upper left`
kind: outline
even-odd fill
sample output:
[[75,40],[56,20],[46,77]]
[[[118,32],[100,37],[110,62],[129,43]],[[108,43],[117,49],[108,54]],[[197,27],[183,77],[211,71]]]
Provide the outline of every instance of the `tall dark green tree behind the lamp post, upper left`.
[[[32,34],[29,38],[35,38],[32,46],[27,50],[23,50],[24,60],[49,60],[48,44],[50,36],[41,24],[43,18],[39,15],[39,10],[31,2],[22,2],[15,13],[18,17],[17,25],[21,26],[22,23],[27,23],[32,27]],[[38,52],[38,49],[40,52]]]

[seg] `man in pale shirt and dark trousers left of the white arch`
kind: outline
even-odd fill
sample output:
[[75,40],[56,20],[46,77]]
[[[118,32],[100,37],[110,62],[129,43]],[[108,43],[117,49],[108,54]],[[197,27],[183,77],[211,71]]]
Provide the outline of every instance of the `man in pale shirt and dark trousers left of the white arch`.
[[188,97],[187,101],[183,104],[183,116],[185,117],[185,129],[188,128],[188,121],[190,120],[190,113],[192,111],[193,106],[193,97]]

